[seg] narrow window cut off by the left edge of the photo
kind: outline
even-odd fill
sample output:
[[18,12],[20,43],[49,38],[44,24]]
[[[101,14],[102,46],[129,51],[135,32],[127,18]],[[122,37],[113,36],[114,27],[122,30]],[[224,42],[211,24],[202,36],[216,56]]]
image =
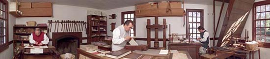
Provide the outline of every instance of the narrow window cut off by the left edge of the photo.
[[8,48],[8,2],[0,0],[0,52]]

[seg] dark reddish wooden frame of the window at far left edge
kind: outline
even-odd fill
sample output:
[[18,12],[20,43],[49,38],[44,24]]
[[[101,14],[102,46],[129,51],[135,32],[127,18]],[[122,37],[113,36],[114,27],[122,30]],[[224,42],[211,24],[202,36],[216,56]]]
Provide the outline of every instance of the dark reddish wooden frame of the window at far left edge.
[[[8,15],[9,15],[9,12],[8,12],[8,1],[7,0],[0,0],[0,2],[2,2],[5,6],[3,6],[4,8],[4,20],[5,20],[5,43],[3,43],[2,45],[0,45],[0,52],[3,52],[4,50],[6,50],[8,48],[8,45],[9,45],[9,40],[8,40]],[[3,19],[3,18],[0,18],[0,19]],[[1,43],[1,42],[0,42]]]

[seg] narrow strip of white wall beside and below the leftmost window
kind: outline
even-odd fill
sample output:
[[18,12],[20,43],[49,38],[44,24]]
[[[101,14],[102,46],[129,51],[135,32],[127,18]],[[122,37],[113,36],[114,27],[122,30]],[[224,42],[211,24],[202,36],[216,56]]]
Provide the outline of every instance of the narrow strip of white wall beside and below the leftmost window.
[[[10,0],[7,0],[10,1]],[[8,15],[8,40],[12,41],[13,40],[13,25],[15,24],[16,18],[12,15]],[[8,42],[7,42],[8,43]],[[2,52],[0,52],[0,59],[12,59],[13,57],[13,44],[10,44],[8,48]]]

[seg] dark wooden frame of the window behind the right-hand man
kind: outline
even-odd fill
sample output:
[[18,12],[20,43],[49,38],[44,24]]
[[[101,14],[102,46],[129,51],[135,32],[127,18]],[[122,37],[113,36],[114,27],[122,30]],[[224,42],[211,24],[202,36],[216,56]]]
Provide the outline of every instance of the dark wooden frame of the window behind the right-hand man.
[[[189,12],[201,12],[201,20],[200,20],[200,23],[201,23],[201,26],[203,26],[203,18],[204,18],[204,13],[203,13],[203,9],[186,9],[187,10],[187,17],[189,17]],[[193,19],[193,18],[192,18]],[[187,25],[186,25],[186,33],[187,33],[187,37],[188,35],[190,34],[189,33],[189,18],[187,18]],[[192,26],[191,26],[192,27]],[[204,27],[204,26],[203,26]]]

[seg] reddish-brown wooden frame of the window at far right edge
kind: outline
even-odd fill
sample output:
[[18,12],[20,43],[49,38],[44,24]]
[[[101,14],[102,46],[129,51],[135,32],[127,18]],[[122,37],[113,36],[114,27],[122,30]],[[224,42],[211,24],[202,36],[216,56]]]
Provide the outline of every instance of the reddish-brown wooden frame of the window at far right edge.
[[[252,7],[252,40],[255,40],[256,41],[256,18],[255,18],[255,14],[257,13],[256,12],[256,6],[261,6],[261,5],[267,5],[267,4],[270,4],[270,1],[269,0],[264,0],[264,1],[259,1],[259,2],[255,2],[253,4],[253,7]],[[268,20],[268,19],[259,19],[259,20]],[[262,28],[262,27],[259,27],[259,28]],[[265,27],[264,27],[265,28]],[[266,39],[266,38],[265,38]],[[270,48],[270,42],[259,42],[259,47],[265,47],[265,48]]]

